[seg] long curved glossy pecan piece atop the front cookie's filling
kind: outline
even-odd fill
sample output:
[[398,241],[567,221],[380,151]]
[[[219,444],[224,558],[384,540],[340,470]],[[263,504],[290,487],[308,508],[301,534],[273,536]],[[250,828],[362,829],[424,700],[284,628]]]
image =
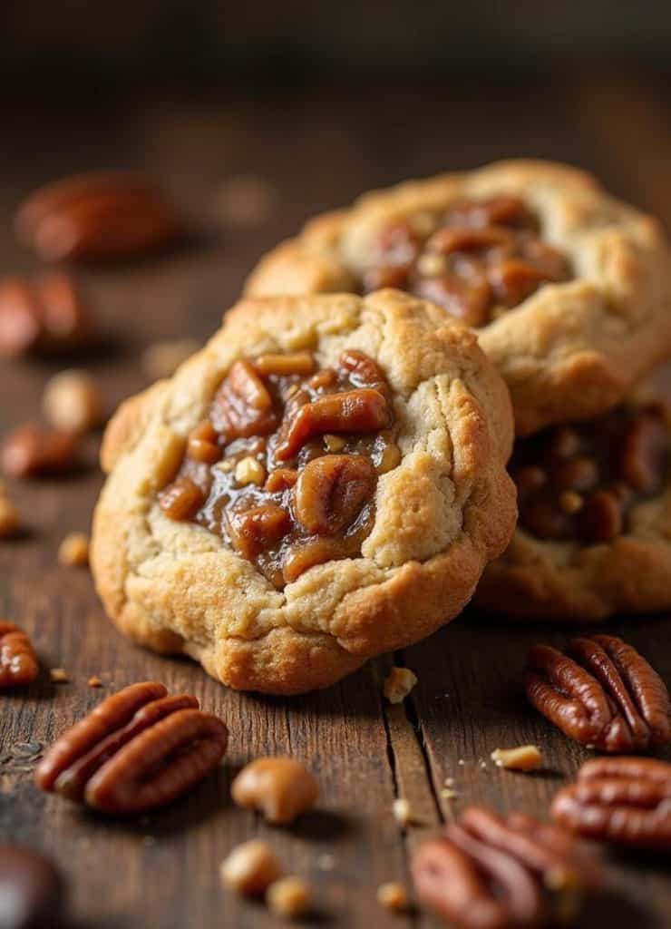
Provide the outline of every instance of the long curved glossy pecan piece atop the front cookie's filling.
[[326,432],[374,432],[391,425],[387,399],[372,387],[326,394],[304,404],[290,419],[277,444],[277,458],[286,461],[313,436]]

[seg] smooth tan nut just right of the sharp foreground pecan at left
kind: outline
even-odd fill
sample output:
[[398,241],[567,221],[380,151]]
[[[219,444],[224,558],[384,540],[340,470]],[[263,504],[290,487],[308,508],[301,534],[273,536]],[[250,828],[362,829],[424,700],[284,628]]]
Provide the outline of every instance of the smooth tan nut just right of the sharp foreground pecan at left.
[[319,796],[316,778],[293,758],[257,758],[239,772],[231,784],[239,805],[260,810],[265,819],[284,824],[307,812]]

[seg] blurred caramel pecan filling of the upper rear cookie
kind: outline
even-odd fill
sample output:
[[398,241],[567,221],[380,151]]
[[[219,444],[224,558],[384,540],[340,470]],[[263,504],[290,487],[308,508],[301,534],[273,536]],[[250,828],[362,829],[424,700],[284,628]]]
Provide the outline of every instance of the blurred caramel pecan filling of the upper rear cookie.
[[363,291],[395,287],[484,326],[545,283],[567,281],[569,263],[540,236],[536,216],[518,197],[461,200],[428,231],[407,220],[383,229]]

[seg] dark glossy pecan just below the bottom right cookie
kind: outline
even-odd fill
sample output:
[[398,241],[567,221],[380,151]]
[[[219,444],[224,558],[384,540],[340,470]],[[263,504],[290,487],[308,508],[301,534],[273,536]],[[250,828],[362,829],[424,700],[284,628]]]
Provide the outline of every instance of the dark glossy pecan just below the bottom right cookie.
[[532,648],[524,677],[539,713],[602,752],[639,752],[671,741],[671,701],[659,674],[614,635],[575,638],[566,653]]

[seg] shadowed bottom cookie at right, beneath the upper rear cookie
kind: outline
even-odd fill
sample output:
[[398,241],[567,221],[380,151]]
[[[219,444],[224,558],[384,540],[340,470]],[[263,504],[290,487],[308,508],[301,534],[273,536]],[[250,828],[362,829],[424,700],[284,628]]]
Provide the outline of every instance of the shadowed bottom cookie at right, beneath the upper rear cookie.
[[655,376],[626,403],[519,438],[520,519],[474,603],[507,618],[604,620],[671,607],[671,407]]

